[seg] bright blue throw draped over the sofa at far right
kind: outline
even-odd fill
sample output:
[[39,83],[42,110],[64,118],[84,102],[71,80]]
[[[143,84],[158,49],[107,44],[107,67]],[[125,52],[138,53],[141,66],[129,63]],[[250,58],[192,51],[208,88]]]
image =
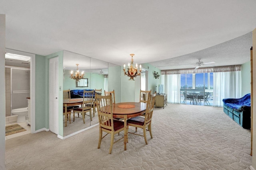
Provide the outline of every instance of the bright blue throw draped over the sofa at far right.
[[232,98],[226,98],[222,99],[224,104],[228,107],[231,107],[233,109],[239,109],[242,106],[251,106],[251,94],[246,94],[244,97],[239,99],[232,99]]

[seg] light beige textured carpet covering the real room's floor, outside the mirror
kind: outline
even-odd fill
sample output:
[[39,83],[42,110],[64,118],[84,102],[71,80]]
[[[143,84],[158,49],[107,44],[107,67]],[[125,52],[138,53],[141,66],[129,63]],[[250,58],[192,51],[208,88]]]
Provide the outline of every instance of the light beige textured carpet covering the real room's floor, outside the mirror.
[[[134,131],[129,127],[129,131]],[[154,108],[148,145],[128,135],[108,154],[110,135],[98,146],[93,127],[65,140],[51,132],[28,134],[6,141],[7,170],[249,170],[250,130],[228,117],[222,107],[168,104]],[[138,133],[143,134],[142,129]],[[116,135],[115,140],[122,137]]]

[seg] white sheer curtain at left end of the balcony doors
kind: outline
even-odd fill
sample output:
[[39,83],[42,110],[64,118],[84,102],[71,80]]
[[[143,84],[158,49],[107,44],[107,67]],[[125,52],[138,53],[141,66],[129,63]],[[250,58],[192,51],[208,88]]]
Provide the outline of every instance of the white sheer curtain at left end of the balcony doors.
[[180,74],[162,75],[164,93],[167,94],[167,103],[180,103]]

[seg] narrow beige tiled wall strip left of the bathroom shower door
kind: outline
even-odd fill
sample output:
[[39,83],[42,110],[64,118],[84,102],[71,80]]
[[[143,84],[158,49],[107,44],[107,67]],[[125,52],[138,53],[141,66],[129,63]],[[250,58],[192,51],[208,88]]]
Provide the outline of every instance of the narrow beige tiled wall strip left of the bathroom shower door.
[[11,68],[5,68],[5,110],[6,117],[11,116]]

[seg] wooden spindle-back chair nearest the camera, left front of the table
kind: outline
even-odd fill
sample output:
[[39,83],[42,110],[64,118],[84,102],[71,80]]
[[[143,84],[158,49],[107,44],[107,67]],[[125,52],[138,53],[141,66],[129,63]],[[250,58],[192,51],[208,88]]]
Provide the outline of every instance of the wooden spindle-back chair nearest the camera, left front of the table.
[[[109,154],[112,152],[113,144],[119,141],[114,142],[114,135],[116,133],[119,133],[121,131],[124,131],[124,122],[119,121],[116,119],[113,119],[113,111],[112,111],[112,94],[109,94],[107,96],[100,96],[95,95],[97,107],[98,107],[98,119],[99,119],[99,127],[100,127],[100,136],[99,136],[99,143],[98,143],[98,149],[100,149],[100,144],[102,139],[108,135],[111,134],[111,141],[110,141],[110,149]],[[106,132],[107,134],[102,137],[102,132]],[[124,142],[125,139],[124,139]]]

